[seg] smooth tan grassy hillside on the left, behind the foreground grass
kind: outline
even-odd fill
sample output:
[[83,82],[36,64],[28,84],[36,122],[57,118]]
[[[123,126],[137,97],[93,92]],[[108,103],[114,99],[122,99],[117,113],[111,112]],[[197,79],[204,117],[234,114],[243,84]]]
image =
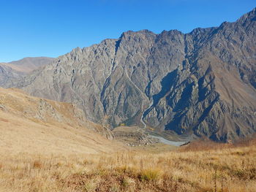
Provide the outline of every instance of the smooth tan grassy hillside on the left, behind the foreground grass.
[[36,98],[18,89],[0,88],[0,133],[2,154],[124,150],[110,140],[108,129],[86,120],[74,104]]

